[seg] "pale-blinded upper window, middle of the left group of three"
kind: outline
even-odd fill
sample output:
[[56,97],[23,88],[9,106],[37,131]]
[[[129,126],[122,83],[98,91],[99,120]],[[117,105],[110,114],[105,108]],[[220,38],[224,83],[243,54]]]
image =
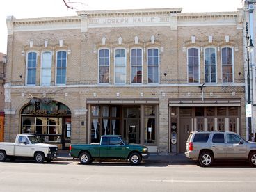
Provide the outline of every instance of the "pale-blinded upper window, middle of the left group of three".
[[51,85],[51,52],[42,53],[41,85]]

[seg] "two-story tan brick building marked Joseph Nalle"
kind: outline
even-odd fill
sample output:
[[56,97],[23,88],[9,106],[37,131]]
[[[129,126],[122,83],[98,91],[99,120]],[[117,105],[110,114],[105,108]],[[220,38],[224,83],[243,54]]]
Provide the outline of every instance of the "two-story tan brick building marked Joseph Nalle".
[[193,130],[246,136],[243,9],[8,17],[5,141],[99,142],[120,134],[184,152]]

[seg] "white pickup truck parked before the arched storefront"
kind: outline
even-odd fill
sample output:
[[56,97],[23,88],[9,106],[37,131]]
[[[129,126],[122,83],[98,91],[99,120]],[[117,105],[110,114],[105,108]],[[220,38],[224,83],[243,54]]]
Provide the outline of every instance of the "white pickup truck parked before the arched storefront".
[[58,147],[40,143],[34,135],[19,134],[15,143],[0,142],[0,161],[6,161],[6,157],[33,157],[36,163],[51,162],[56,157]]

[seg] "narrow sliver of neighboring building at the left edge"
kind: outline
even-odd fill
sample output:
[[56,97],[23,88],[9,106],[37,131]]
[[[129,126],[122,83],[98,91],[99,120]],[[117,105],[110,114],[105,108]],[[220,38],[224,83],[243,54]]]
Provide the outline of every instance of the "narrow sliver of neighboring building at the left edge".
[[6,55],[0,53],[0,142],[4,133],[4,83],[6,81]]

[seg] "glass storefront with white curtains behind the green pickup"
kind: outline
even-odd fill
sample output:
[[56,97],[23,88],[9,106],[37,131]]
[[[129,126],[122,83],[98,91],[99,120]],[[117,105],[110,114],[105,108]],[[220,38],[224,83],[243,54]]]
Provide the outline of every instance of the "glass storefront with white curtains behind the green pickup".
[[122,104],[110,104],[110,101],[109,104],[99,104],[98,101],[88,102],[90,103],[89,143],[99,143],[102,135],[117,134],[123,136],[128,143],[144,144],[149,146],[152,152],[156,152],[159,142],[158,101],[150,101],[151,103],[145,101],[141,104],[136,101],[129,102]]

